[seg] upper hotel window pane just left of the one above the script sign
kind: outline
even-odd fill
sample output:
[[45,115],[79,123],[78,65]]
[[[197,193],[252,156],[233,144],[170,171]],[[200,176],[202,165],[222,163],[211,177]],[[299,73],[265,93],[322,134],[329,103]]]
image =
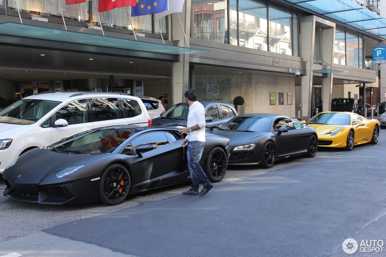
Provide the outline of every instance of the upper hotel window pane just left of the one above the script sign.
[[239,46],[268,51],[265,3],[249,0],[239,2],[239,31]]

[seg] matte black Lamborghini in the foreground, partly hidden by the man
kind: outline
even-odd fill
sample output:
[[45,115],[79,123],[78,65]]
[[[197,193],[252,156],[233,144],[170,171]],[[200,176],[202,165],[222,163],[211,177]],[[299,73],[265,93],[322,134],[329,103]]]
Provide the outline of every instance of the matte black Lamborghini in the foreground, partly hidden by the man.
[[[3,172],[3,194],[45,204],[117,205],[129,194],[191,181],[181,142],[171,127],[88,130],[12,162]],[[224,177],[228,157],[229,139],[207,133],[201,167],[210,181]]]

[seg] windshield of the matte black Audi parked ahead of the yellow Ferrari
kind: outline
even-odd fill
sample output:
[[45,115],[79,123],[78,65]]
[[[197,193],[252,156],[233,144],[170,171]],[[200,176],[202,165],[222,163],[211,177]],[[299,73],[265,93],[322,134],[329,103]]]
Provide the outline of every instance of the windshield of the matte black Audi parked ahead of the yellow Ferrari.
[[234,131],[269,132],[272,119],[258,117],[235,117],[224,126]]

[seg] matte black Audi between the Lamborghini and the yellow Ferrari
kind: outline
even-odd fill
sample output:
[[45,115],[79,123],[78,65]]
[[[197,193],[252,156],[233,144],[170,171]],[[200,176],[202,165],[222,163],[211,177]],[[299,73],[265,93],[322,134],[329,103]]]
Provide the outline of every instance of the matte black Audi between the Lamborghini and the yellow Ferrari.
[[295,118],[252,113],[212,127],[214,134],[230,139],[229,164],[261,164],[271,167],[276,160],[305,154],[314,157],[318,147],[315,128]]

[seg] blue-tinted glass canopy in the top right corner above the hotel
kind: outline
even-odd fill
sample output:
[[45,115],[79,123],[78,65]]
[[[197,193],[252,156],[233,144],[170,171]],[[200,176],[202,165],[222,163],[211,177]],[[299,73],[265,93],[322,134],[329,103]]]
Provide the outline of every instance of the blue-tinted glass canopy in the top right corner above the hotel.
[[386,19],[350,0],[287,1],[386,39]]

